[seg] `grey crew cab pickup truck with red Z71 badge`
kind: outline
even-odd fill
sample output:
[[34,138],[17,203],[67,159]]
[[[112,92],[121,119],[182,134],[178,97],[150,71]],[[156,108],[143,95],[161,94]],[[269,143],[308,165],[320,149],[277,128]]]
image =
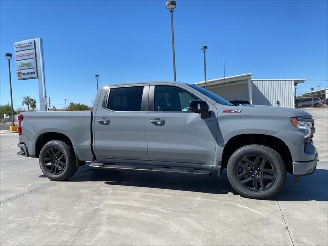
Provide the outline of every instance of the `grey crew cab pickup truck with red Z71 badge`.
[[[18,154],[39,158],[50,180],[78,166],[208,176],[223,169],[242,196],[277,194],[286,173],[316,169],[312,116],[272,106],[234,106],[191,84],[137,83],[99,89],[91,111],[23,112]],[[218,188],[219,189],[219,188]]]

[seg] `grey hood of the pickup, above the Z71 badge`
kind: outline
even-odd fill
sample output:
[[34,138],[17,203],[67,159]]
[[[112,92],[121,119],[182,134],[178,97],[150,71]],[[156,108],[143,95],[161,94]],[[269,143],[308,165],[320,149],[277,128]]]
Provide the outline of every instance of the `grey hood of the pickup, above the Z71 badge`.
[[265,105],[240,105],[235,106],[233,109],[241,109],[243,114],[263,115],[263,116],[286,116],[297,118],[312,118],[308,112],[300,109],[275,107]]

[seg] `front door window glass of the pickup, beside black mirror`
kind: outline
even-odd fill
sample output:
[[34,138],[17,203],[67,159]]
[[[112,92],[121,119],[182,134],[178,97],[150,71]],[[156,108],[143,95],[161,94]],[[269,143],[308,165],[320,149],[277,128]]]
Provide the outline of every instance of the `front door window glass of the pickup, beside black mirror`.
[[189,111],[190,101],[198,98],[175,86],[155,86],[155,111]]

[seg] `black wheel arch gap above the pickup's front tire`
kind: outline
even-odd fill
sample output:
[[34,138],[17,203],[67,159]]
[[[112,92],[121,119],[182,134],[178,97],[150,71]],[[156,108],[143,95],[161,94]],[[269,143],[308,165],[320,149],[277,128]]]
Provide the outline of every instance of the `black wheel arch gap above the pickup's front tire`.
[[286,169],[289,173],[293,172],[292,156],[288,146],[280,138],[265,134],[241,134],[231,137],[224,146],[222,153],[221,172],[227,167],[228,160],[232,153],[242,146],[249,144],[261,144],[277,151],[282,157]]

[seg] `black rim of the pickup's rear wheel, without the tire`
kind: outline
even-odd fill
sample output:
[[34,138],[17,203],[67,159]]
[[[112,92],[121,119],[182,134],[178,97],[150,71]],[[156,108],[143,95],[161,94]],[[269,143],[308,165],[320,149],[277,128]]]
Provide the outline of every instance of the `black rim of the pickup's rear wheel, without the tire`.
[[52,175],[62,173],[66,166],[65,155],[57,148],[50,148],[44,155],[44,166]]

